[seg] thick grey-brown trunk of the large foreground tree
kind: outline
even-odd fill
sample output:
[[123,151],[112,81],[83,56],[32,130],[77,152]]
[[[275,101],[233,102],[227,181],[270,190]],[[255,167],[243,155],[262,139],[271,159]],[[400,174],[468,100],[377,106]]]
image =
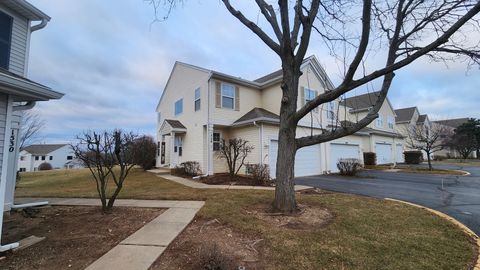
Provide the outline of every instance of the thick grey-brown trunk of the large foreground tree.
[[293,116],[297,111],[300,66],[295,64],[293,57],[287,56],[282,59],[282,62],[283,96],[280,107],[275,201],[273,202],[273,207],[282,213],[292,214],[298,211],[294,189],[297,122]]

